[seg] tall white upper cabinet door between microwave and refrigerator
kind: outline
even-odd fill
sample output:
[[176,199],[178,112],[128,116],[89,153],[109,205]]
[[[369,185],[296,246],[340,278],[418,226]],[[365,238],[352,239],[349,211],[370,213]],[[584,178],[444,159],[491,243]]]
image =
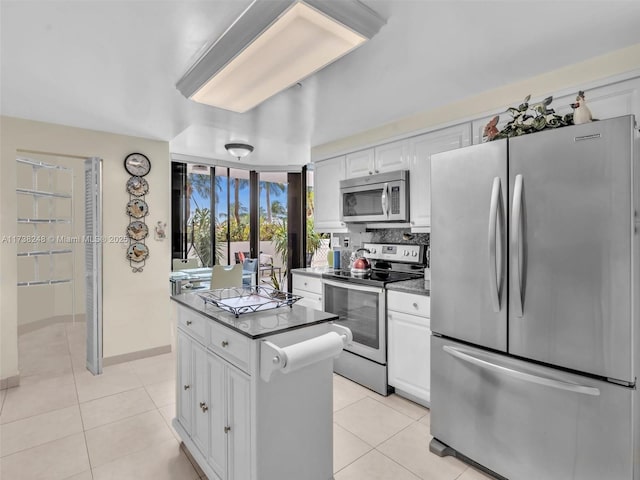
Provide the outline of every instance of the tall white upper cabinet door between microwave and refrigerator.
[[431,226],[431,155],[471,144],[471,125],[456,125],[409,139],[411,228]]

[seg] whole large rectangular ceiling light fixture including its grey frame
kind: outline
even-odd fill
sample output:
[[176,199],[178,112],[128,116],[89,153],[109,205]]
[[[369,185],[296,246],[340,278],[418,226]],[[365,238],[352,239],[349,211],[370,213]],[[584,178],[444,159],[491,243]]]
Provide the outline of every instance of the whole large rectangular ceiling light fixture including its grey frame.
[[373,37],[359,1],[254,0],[180,79],[187,98],[243,113]]

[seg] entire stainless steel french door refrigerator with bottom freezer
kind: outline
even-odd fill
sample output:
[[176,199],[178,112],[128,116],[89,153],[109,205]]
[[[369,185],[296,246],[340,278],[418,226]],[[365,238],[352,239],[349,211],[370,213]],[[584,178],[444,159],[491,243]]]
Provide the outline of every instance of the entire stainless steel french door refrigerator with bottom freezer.
[[624,116],[431,157],[432,452],[640,480],[636,138]]

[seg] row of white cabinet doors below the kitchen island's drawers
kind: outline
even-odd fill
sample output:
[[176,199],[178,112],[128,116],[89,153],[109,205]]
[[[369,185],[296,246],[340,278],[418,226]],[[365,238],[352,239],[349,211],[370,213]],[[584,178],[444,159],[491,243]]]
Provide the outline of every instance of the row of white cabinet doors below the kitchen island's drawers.
[[220,480],[251,478],[249,376],[181,329],[177,342],[180,426]]

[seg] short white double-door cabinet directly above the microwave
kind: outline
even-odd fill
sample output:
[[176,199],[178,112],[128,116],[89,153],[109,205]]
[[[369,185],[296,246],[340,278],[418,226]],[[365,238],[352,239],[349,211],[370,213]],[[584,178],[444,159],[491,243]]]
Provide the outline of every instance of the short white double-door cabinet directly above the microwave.
[[408,169],[408,145],[408,140],[400,140],[347,154],[346,177],[364,177]]

